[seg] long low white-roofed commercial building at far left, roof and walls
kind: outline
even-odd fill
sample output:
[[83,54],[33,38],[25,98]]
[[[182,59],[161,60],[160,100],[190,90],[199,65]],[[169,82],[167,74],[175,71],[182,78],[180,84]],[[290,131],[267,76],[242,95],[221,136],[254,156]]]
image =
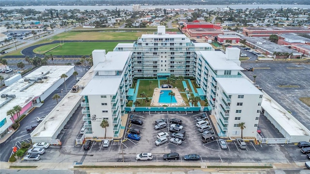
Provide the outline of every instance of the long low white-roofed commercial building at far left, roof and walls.
[[20,115],[32,107],[39,106],[63,83],[62,74],[68,77],[74,66],[42,66],[0,91],[0,138],[8,133],[17,115],[7,115],[14,106],[21,107]]

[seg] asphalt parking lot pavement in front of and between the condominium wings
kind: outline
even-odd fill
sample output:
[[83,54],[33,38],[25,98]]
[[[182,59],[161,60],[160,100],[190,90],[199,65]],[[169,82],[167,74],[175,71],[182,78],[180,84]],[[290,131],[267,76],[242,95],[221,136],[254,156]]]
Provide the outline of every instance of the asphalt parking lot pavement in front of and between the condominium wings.
[[[102,142],[94,142],[90,150],[84,150],[83,146],[75,146],[74,139],[79,131],[79,126],[75,126],[71,134],[73,137],[63,136],[69,138],[62,146],[52,146],[47,149],[46,153],[42,155],[38,162],[163,162],[163,155],[170,152],[177,152],[182,157],[178,162],[186,162],[183,157],[187,154],[198,154],[201,156],[200,160],[196,162],[303,162],[306,157],[301,154],[297,145],[255,145],[252,141],[246,141],[247,148],[240,149],[235,141],[227,140],[227,149],[221,149],[217,140],[203,143],[201,140],[202,134],[196,127],[196,117],[202,114],[154,114],[149,113],[134,113],[129,115],[127,120],[139,118],[143,124],[134,125],[128,123],[125,128],[125,135],[123,143],[121,141],[111,141],[109,147],[102,147]],[[156,135],[159,132],[169,132],[168,128],[171,126],[170,119],[182,119],[183,130],[186,131],[185,140],[181,145],[164,143],[156,146]],[[154,122],[157,119],[167,119],[168,128],[162,130],[154,129]],[[72,119],[77,120],[77,119]],[[140,129],[140,141],[130,140],[127,137],[130,129]],[[169,138],[171,133],[169,133]],[[140,153],[152,153],[153,160],[137,161],[136,155]],[[170,161],[170,160],[169,160]],[[171,160],[174,161],[174,160]],[[29,161],[27,161],[29,162]]]

